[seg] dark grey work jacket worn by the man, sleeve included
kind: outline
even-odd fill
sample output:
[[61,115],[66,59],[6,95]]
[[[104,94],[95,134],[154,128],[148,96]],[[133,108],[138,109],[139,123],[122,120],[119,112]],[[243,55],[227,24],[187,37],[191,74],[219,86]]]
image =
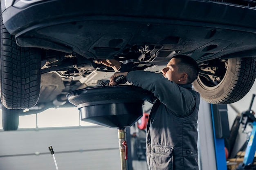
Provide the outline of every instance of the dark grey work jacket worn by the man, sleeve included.
[[146,135],[149,170],[198,170],[199,93],[192,84],[177,85],[160,74],[131,71],[127,81],[157,98]]

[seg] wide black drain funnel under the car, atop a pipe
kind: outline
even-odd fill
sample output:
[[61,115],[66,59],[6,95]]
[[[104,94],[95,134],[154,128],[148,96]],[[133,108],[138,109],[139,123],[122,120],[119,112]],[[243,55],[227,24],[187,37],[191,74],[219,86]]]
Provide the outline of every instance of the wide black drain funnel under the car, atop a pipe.
[[137,86],[99,86],[67,94],[79,109],[81,120],[107,126],[126,128],[143,115],[142,105],[150,92]]

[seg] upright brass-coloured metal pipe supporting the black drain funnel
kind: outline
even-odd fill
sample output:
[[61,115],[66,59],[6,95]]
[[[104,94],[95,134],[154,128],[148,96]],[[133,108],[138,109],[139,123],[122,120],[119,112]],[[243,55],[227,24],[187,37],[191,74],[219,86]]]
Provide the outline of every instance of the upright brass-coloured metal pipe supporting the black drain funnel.
[[119,151],[120,151],[120,158],[121,158],[121,170],[126,170],[127,145],[125,141],[124,129],[118,129],[118,139],[119,139]]

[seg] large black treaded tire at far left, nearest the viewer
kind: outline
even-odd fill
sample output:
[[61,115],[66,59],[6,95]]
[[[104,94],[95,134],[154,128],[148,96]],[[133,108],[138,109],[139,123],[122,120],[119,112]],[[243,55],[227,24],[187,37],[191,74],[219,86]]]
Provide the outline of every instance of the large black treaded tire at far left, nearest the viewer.
[[0,96],[8,109],[31,108],[40,92],[40,49],[22,48],[4,27],[0,16]]

